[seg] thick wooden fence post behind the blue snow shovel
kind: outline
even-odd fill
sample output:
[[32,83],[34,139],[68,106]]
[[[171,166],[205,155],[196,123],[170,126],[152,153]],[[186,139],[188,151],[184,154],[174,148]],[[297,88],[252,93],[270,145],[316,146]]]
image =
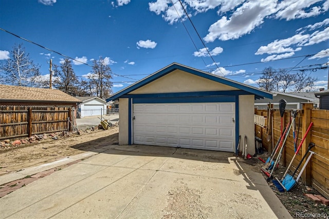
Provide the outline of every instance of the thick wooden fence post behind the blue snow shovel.
[[[313,109],[313,104],[312,103],[304,103],[303,104],[303,124],[302,124],[302,136],[304,136],[304,134],[306,133],[306,130],[311,122],[311,111]],[[307,148],[308,148],[308,144],[310,143],[310,136],[311,136],[311,132],[308,132],[308,134],[305,137],[305,141],[302,145],[302,155],[305,154]],[[307,157],[307,156],[306,156]],[[306,160],[306,158],[305,158]],[[305,163],[305,160],[303,161],[303,164]],[[310,162],[307,164],[304,172],[302,173],[302,183],[305,184],[306,186],[310,186],[312,185],[312,178],[311,178],[311,169],[310,169]]]

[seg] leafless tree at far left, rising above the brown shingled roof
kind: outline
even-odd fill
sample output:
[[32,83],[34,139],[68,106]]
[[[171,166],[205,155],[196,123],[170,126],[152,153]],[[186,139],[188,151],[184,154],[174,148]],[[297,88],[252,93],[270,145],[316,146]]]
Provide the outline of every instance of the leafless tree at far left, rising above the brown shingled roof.
[[33,78],[40,75],[40,66],[33,64],[22,44],[13,46],[11,56],[0,66],[6,75],[3,81],[16,86],[33,86]]

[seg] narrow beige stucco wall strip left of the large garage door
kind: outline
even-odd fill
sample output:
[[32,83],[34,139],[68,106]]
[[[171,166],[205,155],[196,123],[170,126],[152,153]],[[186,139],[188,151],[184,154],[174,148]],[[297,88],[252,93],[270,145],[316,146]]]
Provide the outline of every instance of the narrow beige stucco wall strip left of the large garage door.
[[120,110],[119,110],[119,145],[127,145],[129,143],[129,103],[128,98],[120,98]]

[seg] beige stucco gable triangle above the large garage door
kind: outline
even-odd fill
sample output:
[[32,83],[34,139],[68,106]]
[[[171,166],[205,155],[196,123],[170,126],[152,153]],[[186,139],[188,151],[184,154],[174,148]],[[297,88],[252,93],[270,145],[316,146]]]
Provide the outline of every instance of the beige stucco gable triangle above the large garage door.
[[[130,94],[239,90],[185,71],[175,70]],[[120,103],[121,104],[121,103]],[[120,106],[121,110],[121,106]],[[120,121],[121,122],[121,121]]]

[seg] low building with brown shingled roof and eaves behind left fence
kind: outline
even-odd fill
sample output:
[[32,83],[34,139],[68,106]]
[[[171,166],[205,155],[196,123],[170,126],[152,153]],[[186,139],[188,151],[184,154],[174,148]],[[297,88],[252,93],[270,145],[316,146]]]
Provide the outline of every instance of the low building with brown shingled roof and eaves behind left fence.
[[79,103],[79,99],[56,89],[0,85],[0,105],[76,107]]

